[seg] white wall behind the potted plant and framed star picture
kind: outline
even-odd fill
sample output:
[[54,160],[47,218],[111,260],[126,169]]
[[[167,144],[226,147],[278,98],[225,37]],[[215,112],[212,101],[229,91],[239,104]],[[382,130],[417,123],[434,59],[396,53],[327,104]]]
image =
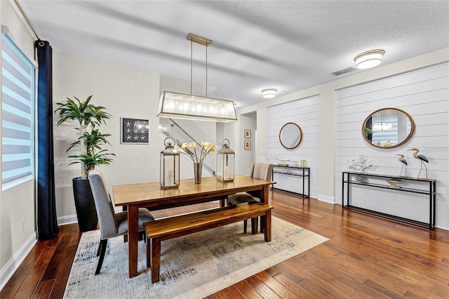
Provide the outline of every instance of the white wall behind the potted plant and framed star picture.
[[[93,95],[91,103],[102,105],[112,114],[107,125],[100,129],[109,133],[111,147],[116,154],[109,166],[99,170],[105,174],[109,190],[112,185],[133,182],[159,181],[159,153],[165,147],[159,138],[159,119],[156,118],[159,103],[159,74],[112,65],[105,62],[79,58],[53,52],[53,109],[56,102],[76,96],[86,100]],[[149,119],[149,144],[121,144],[120,118]],[[54,124],[57,116],[53,119]],[[73,124],[76,126],[76,123]],[[58,222],[76,221],[72,191],[72,178],[79,176],[79,164],[67,166],[66,153],[70,142],[76,140],[76,130],[70,124],[54,126],[55,138],[55,185]],[[73,150],[76,154],[77,149]],[[158,171],[154,171],[158,169]]]

